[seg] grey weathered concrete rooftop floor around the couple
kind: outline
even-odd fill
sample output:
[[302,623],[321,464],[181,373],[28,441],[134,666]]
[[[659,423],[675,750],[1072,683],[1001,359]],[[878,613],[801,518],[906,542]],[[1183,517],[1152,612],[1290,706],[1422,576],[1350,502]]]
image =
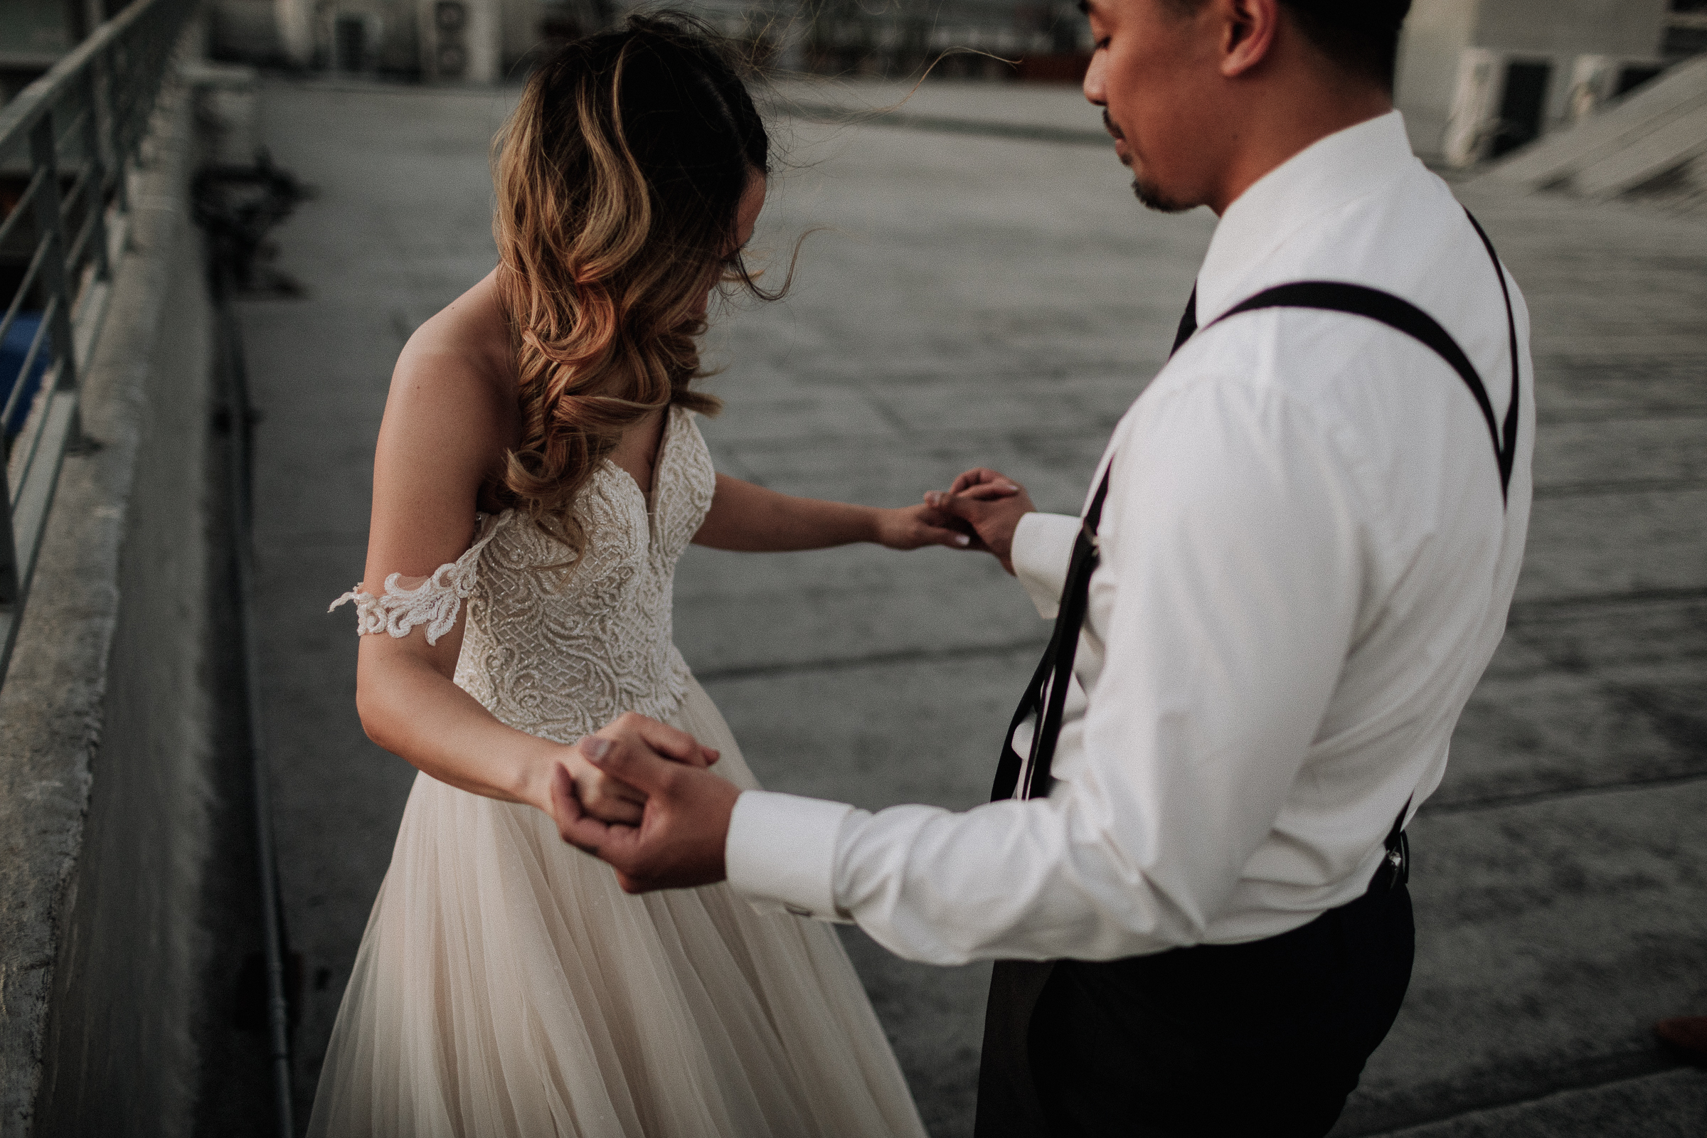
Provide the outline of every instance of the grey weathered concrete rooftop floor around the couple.
[[[806,92],[883,104],[893,89]],[[799,92],[790,92],[799,94]],[[294,949],[300,1118],[415,776],[362,735],[355,636],[372,442],[398,348],[493,264],[486,147],[514,92],[273,82],[263,136],[319,188],[277,232],[306,299],[241,305],[258,432],[263,688]],[[917,114],[1094,130],[1072,90],[932,85]],[[1075,512],[1162,362],[1205,212],[1139,208],[1104,145],[785,119],[754,246],[792,295],[710,343],[720,466],[915,502],[966,466]],[[1511,631],[1412,829],[1419,955],[1337,1135],[1707,1133],[1659,1053],[1707,1012],[1707,227],[1468,200],[1535,314],[1541,428]],[[988,558],[693,549],[678,642],[777,790],[985,798],[1046,626]],[[971,1133],[987,966],[847,933],[920,1109]]]

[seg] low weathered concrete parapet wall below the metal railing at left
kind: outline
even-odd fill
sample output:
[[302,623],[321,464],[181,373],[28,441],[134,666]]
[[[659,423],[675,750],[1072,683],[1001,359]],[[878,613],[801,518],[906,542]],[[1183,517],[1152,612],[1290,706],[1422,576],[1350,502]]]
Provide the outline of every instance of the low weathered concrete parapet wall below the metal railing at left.
[[[0,688],[0,1133],[176,1135],[208,945],[212,314],[167,92]],[[230,758],[227,761],[239,761]]]

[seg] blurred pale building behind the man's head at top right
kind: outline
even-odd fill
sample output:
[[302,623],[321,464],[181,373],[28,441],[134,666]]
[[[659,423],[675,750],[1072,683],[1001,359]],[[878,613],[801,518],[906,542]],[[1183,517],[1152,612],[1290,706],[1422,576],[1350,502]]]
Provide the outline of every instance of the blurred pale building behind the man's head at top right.
[[1468,165],[1704,49],[1707,0],[1415,0],[1396,97],[1420,155]]

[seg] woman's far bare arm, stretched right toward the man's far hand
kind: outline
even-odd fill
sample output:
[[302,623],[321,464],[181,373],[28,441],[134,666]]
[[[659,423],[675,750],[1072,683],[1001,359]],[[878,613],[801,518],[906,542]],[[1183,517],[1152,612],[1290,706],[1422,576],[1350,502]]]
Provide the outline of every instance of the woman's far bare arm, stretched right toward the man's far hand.
[[949,546],[964,549],[970,537],[951,529],[953,519],[929,505],[893,510],[795,498],[794,495],[717,476],[712,508],[693,543],[712,549],[780,553],[784,549],[828,549],[855,541],[872,541],[891,549]]

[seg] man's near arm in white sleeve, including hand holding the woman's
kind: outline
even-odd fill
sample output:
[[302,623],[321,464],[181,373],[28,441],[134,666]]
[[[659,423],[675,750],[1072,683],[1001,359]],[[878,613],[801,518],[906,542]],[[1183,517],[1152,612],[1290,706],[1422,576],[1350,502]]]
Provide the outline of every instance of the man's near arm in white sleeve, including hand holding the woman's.
[[1092,580],[1104,664],[1050,798],[869,814],[734,797],[702,771],[623,756],[608,773],[642,780],[647,821],[570,817],[565,836],[626,887],[727,874],[760,906],[852,918],[939,964],[1198,942],[1273,829],[1364,584],[1343,459],[1284,399],[1241,394],[1151,399],[1164,423],[1120,444]]

